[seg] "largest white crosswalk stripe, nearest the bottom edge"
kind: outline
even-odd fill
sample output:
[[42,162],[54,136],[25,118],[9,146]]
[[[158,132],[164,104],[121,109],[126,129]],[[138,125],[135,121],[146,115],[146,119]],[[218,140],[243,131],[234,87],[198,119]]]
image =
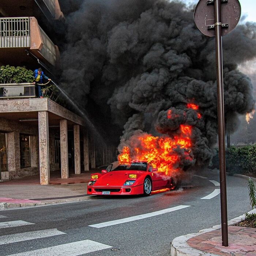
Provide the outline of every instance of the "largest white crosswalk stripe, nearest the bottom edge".
[[91,240],[83,240],[69,244],[61,244],[29,252],[15,253],[9,256],[78,256],[89,252],[96,252],[112,246],[101,244]]

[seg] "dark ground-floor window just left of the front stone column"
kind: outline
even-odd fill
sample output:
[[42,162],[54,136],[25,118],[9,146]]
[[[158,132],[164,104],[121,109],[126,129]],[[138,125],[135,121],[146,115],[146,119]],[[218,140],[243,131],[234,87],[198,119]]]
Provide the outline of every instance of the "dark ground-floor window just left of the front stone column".
[[30,167],[30,136],[20,134],[20,167]]

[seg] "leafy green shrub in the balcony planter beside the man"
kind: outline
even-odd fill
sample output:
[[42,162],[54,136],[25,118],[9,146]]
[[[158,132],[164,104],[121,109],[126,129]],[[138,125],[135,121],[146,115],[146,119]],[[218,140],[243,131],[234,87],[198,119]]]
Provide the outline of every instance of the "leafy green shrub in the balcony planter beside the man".
[[25,67],[1,66],[0,83],[31,83],[34,81],[33,71]]

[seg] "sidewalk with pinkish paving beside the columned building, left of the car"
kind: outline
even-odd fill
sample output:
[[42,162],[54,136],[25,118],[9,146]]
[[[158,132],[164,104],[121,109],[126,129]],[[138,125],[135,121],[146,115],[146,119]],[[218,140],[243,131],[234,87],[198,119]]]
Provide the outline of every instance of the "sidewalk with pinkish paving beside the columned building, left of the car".
[[51,172],[50,185],[40,185],[39,175],[0,182],[0,210],[89,200],[87,184],[98,171],[69,173],[67,179],[61,179],[60,171]]

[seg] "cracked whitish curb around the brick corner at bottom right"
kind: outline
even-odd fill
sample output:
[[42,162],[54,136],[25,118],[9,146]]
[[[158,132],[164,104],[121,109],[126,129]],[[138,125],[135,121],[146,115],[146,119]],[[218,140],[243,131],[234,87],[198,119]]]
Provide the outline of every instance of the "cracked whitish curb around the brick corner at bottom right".
[[[240,174],[238,174],[238,175],[240,175]],[[248,213],[256,213],[256,209],[253,209],[252,211],[249,211]],[[245,214],[241,215],[237,218],[231,219],[230,221],[227,222],[227,224],[229,226],[233,226],[233,225],[243,221],[244,219],[245,219]],[[187,244],[187,241],[190,238],[202,235],[202,234],[210,232],[210,231],[214,231],[219,228],[221,228],[221,225],[215,225],[210,229],[200,230],[198,233],[187,234],[185,236],[180,236],[180,237],[174,238],[172,241],[170,255],[171,256],[219,256],[217,254],[199,251],[195,248],[190,247]]]

